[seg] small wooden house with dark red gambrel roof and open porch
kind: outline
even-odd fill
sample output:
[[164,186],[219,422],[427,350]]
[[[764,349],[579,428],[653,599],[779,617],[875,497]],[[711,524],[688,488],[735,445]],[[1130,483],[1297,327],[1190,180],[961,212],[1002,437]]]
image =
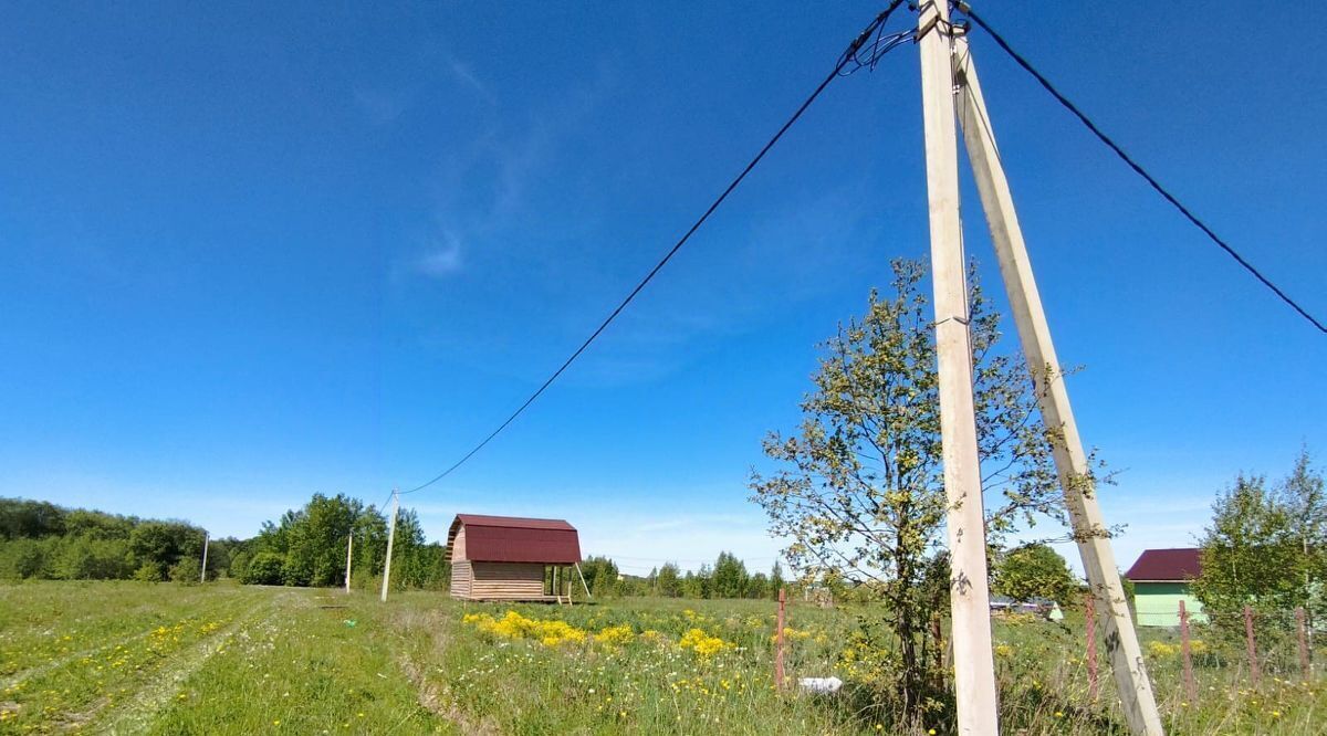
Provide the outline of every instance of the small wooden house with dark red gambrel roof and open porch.
[[564,568],[580,564],[576,528],[560,519],[459,513],[447,550],[451,597],[466,601],[561,601]]

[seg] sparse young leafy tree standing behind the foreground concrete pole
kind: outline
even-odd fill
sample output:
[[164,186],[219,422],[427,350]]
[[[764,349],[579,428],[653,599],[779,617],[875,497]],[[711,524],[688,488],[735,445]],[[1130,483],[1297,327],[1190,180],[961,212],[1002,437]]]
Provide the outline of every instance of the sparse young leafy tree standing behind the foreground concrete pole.
[[[803,577],[833,573],[886,603],[898,659],[882,675],[896,678],[904,712],[914,712],[936,679],[926,652],[940,643],[930,618],[949,587],[946,499],[925,269],[897,260],[893,275],[892,293],[872,292],[867,313],[824,343],[799,432],[764,442],[784,467],[754,473],[751,489],[771,533],[792,540],[784,557]],[[1027,367],[998,350],[999,318],[975,273],[970,281],[978,448],[987,499],[1003,495],[987,508],[989,532],[998,536],[1020,516],[1063,520],[1063,503]]]

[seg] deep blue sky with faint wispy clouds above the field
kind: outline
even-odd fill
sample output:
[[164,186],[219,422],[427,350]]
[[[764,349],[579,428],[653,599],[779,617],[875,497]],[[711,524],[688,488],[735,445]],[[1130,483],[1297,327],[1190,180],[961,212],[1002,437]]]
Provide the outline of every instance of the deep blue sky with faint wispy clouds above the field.
[[[878,11],[11,4],[0,495],[247,536],[381,503],[533,390]],[[1247,4],[985,17],[1327,314],[1322,34]],[[910,20],[896,16],[892,28]],[[1166,29],[1158,32],[1157,29]],[[1239,471],[1327,456],[1327,339],[974,32],[1121,565]],[[628,570],[779,542],[746,501],[815,343],[928,251],[917,58],[836,81],[561,382],[409,497],[560,516]],[[967,249],[998,292],[965,174]],[[1011,329],[1011,328],[1010,328]]]

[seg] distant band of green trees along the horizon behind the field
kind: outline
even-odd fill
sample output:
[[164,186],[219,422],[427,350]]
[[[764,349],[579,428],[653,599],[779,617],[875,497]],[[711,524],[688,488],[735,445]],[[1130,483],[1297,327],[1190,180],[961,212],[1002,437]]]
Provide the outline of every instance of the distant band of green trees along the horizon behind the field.
[[[389,519],[373,505],[345,495],[314,493],[303,508],[265,521],[251,538],[212,538],[207,578],[234,578],[247,585],[342,586],[346,538],[354,534],[350,570],[356,587],[382,582]],[[101,511],[70,509],[48,501],[0,499],[0,580],[138,580],[196,582],[202,573],[204,529],[179,520],[153,520]],[[1001,565],[1001,593],[1064,601],[1072,586],[1068,568],[1050,548],[1036,545],[1010,553]],[[779,561],[770,573],[750,572],[731,552],[714,564],[682,570],[675,562],[646,576],[622,574],[606,556],[581,562],[594,597],[657,595],[664,598],[776,598],[780,587],[800,595],[808,585],[836,598],[852,595],[847,580],[790,581]],[[442,542],[425,538],[419,517],[401,509],[393,542],[393,586],[442,590],[451,565]]]

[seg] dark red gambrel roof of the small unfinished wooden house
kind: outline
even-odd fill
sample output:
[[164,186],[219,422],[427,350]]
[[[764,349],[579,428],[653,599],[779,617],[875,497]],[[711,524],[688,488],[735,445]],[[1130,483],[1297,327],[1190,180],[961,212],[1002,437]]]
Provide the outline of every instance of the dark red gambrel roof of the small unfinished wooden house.
[[458,513],[447,534],[447,548],[466,528],[466,560],[471,562],[580,562],[580,536],[561,519],[519,519]]

